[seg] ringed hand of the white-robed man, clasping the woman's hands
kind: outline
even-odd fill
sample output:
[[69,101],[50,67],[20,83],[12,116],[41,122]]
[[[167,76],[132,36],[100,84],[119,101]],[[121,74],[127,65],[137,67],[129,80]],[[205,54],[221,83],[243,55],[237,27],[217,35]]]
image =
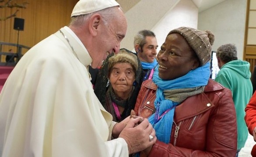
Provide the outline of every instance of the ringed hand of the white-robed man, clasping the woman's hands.
[[[137,153],[146,148],[151,148],[157,140],[155,130],[148,120],[145,118],[139,123],[140,120],[141,117],[131,118],[119,135],[119,137],[122,137],[126,141],[129,154]],[[153,140],[149,140],[149,135],[154,137]]]

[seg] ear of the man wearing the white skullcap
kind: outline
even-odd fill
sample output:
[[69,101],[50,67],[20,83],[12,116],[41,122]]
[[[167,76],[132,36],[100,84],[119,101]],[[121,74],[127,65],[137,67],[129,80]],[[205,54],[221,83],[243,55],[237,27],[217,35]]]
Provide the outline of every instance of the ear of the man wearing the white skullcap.
[[89,31],[92,36],[96,36],[99,31],[99,25],[102,23],[102,17],[99,14],[93,14],[89,20]]

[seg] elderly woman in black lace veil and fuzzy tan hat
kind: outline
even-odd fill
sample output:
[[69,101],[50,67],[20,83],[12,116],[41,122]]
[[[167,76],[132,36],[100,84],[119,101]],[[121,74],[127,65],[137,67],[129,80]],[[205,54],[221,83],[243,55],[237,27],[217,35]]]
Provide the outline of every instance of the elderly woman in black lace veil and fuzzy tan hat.
[[122,121],[134,109],[143,80],[141,70],[137,55],[125,48],[103,62],[94,91],[113,121]]

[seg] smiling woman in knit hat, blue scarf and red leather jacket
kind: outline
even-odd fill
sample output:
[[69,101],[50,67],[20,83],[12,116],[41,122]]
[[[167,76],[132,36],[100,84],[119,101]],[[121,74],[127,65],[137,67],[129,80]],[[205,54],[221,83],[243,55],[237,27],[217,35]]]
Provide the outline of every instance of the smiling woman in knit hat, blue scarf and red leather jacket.
[[[229,89],[210,79],[214,35],[180,27],[162,44],[152,80],[141,85],[135,112],[156,130],[150,157],[235,157],[236,111]],[[151,116],[150,116],[151,115]]]

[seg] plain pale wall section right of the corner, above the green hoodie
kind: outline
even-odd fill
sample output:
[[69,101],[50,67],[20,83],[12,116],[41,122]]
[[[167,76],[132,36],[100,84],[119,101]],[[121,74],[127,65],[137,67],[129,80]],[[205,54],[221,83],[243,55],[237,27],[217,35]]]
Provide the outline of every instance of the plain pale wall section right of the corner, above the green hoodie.
[[198,14],[198,29],[215,35],[213,51],[222,44],[235,44],[238,58],[243,59],[246,5],[246,0],[225,0]]

